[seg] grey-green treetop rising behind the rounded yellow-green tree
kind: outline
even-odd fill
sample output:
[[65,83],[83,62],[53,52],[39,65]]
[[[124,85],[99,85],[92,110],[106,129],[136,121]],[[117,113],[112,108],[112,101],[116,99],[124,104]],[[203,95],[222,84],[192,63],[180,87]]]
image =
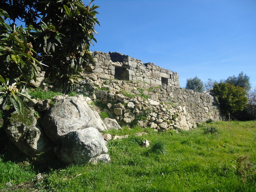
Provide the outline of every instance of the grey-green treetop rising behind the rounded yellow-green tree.
[[238,74],[238,76],[230,76],[225,80],[225,83],[229,83],[232,84],[234,86],[237,87],[242,87],[244,88],[244,90],[248,91],[251,88],[251,84],[250,84],[250,77],[246,74],[244,74],[244,72],[240,72],[240,74]]

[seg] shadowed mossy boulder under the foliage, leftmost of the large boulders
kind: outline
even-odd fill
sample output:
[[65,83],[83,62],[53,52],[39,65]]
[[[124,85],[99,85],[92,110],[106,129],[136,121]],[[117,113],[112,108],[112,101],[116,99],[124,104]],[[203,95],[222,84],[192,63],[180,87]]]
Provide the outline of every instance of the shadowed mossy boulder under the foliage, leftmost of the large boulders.
[[30,157],[37,157],[53,148],[52,142],[36,125],[33,111],[25,109],[24,114],[12,113],[4,130],[9,140]]

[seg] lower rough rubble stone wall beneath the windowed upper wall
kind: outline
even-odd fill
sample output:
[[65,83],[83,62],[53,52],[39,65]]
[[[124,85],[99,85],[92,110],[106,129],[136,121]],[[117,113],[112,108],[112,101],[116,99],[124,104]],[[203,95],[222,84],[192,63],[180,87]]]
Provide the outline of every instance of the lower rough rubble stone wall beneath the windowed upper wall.
[[146,82],[84,78],[76,91],[89,96],[120,124],[138,124],[164,131],[188,130],[209,119],[222,120],[209,94],[171,89],[165,84],[154,87]]

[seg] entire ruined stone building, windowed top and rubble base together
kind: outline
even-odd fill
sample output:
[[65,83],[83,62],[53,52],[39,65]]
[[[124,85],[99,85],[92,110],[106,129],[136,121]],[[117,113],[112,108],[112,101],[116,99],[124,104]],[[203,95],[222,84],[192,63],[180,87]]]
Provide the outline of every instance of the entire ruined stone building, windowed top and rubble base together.
[[222,120],[209,94],[180,88],[178,74],[116,52],[94,52],[77,91],[106,104],[120,124],[158,131],[182,128],[209,119]]

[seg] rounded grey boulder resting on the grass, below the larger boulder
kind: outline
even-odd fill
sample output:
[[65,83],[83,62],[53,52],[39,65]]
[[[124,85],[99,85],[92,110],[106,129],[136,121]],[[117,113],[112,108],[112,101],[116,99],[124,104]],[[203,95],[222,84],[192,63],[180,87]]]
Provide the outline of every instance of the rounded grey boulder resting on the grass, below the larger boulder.
[[[66,134],[62,139],[58,157],[64,164],[84,164],[98,160],[106,162],[110,160],[106,152],[108,148],[100,132],[96,128],[88,127]],[[106,155],[102,157],[101,154]]]

